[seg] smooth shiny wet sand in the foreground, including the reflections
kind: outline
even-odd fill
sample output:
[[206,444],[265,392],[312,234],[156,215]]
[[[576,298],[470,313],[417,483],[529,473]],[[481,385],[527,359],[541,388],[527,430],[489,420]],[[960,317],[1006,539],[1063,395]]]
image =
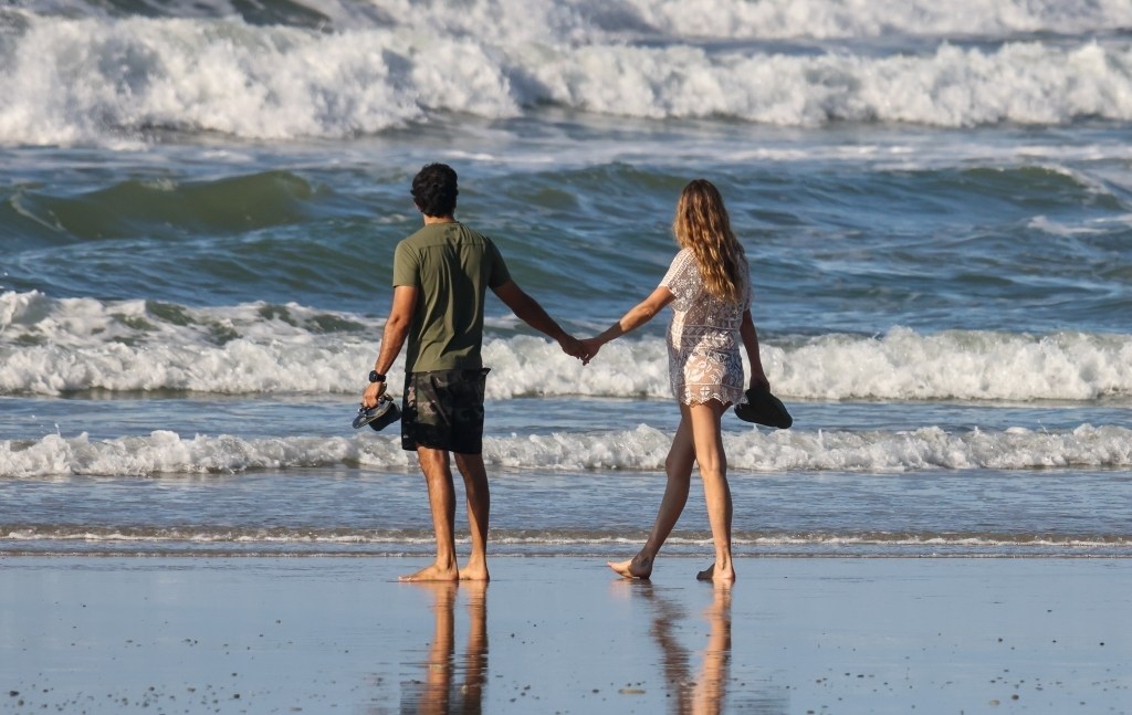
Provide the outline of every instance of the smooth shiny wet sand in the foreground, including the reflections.
[[1132,568],[740,559],[0,559],[0,713],[1122,713]]

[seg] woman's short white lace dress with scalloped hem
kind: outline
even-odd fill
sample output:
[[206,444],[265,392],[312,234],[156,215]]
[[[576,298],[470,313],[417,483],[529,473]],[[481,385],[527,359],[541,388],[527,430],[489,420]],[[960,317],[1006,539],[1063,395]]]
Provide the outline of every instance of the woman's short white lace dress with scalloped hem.
[[743,338],[739,326],[751,305],[751,277],[744,276],[743,300],[721,301],[704,288],[691,249],[681,249],[661,285],[676,296],[668,327],[668,376],[672,395],[686,405],[743,397]]

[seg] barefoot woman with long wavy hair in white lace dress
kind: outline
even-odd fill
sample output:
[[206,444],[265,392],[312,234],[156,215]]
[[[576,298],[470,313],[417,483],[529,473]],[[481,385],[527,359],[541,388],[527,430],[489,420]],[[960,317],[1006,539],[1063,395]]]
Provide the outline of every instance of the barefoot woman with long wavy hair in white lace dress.
[[676,205],[672,231],[680,251],[642,303],[604,333],[583,341],[590,358],[602,345],[638,328],[672,304],[668,329],[668,370],[680,407],[680,425],[664,460],[668,484],[657,522],[641,552],[628,561],[609,562],[626,578],[649,578],[653,561],[672,532],[688,499],[692,466],[700,464],[707,519],[715,543],[715,562],[701,571],[702,580],[735,580],[731,561],[731,490],[720,419],[743,397],[743,360],[751,363],[751,387],[770,388],[758,358],[758,336],[751,319],[751,275],[747,258],[731,233],[719,190],[704,179],[684,188]]

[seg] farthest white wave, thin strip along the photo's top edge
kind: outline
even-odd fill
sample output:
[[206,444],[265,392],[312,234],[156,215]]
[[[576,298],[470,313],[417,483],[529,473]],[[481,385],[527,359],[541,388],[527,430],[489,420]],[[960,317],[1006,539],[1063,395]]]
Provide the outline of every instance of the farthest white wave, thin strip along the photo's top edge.
[[959,0],[289,0],[192,3],[137,0],[15,0],[17,8],[67,17],[232,18],[323,32],[396,27],[558,42],[635,37],[859,38],[889,35],[1000,36],[1110,33],[1132,26],[1124,0],[1056,2]]

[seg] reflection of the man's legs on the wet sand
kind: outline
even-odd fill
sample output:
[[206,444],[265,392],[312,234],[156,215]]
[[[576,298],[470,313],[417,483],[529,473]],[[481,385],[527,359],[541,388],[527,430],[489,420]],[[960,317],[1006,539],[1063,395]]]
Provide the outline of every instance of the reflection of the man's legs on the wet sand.
[[[414,679],[412,687],[402,690],[401,712],[424,715],[482,712],[488,672],[487,582],[424,582],[413,586],[431,592],[435,628],[423,678]],[[463,663],[457,665],[455,606],[461,592],[468,600],[469,627]]]

